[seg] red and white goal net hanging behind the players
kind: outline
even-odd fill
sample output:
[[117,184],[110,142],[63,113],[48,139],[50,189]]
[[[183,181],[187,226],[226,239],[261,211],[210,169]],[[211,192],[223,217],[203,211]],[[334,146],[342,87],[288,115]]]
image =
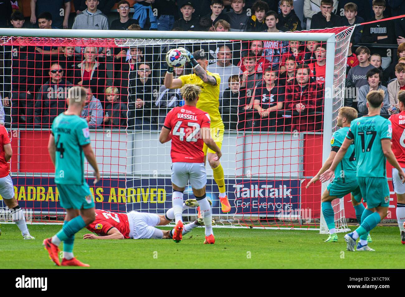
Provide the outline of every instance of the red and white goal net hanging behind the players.
[[[89,123],[102,175],[93,185],[93,170],[85,162],[96,208],[165,213],[172,193],[170,142],[160,144],[158,137],[166,114],[184,105],[179,89],[164,86],[165,55],[182,46],[191,53],[203,51],[207,71],[220,76],[220,96],[213,107],[224,122],[220,161],[232,207],[222,211],[207,162],[207,197],[218,225],[322,232],[320,194],[325,185],[305,185],[329,155],[337,129],[352,29],[126,31],[111,33],[114,38],[81,30],[59,35],[37,29],[4,31],[1,119],[12,139],[11,172],[19,205],[33,221],[63,221],[47,143],[53,119],[66,109],[67,90],[82,85],[91,94],[82,117]],[[12,36],[18,32],[26,37]],[[64,32],[70,35],[59,37]],[[45,37],[49,34],[55,36]],[[174,77],[192,73],[186,64],[175,68]],[[61,153],[63,147],[57,150]],[[184,199],[194,198],[190,186],[184,193]],[[334,203],[337,228],[344,230],[343,199]],[[6,210],[2,200],[0,207]],[[190,208],[183,215],[191,221],[197,212]]]

